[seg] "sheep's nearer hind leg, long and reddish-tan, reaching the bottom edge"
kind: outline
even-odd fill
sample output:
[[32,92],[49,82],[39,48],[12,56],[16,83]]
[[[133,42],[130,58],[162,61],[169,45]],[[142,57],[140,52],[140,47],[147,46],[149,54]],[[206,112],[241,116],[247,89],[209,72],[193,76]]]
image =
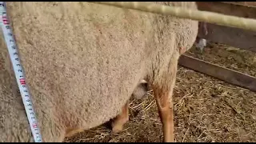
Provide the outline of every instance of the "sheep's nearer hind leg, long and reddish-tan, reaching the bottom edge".
[[158,114],[162,122],[164,142],[174,142],[174,111],[172,94],[175,85],[178,60],[173,58],[170,66],[158,74],[158,78],[151,84],[154,98],[158,106]]

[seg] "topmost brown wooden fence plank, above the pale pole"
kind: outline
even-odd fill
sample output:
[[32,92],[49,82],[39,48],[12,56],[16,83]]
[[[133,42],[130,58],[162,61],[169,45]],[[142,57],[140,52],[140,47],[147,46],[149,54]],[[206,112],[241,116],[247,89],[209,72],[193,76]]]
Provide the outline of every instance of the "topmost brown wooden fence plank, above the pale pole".
[[236,5],[230,2],[197,2],[197,4],[198,10],[206,10],[243,18],[256,18],[256,7],[254,6]]

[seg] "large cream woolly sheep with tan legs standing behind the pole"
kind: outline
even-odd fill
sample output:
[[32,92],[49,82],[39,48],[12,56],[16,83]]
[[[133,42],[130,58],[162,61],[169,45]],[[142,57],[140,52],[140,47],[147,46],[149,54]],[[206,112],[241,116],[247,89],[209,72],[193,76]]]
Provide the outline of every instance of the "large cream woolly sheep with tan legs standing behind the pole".
[[[195,2],[155,2],[197,9]],[[174,142],[178,58],[198,22],[90,2],[6,2],[43,142],[62,142],[114,118],[143,79],[154,90],[164,142]],[[0,142],[33,142],[6,45],[0,43]]]

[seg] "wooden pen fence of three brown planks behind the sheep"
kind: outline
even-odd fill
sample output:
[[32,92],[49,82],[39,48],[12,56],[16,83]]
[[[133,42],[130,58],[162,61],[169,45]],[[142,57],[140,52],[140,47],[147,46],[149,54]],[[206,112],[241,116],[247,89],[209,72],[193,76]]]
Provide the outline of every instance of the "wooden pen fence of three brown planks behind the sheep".
[[[235,2],[198,2],[198,9],[243,18],[256,18],[256,7],[238,5]],[[209,33],[205,35],[202,33],[202,29],[199,28],[198,37],[205,38],[210,42],[223,43],[229,46],[256,52],[256,33],[254,31],[218,26],[210,23],[207,23],[207,29]],[[179,64],[256,92],[256,78],[250,75],[242,74],[236,70],[226,69],[221,66],[216,66],[209,62],[203,62],[199,59],[191,58],[186,55],[183,55],[180,58]]]

